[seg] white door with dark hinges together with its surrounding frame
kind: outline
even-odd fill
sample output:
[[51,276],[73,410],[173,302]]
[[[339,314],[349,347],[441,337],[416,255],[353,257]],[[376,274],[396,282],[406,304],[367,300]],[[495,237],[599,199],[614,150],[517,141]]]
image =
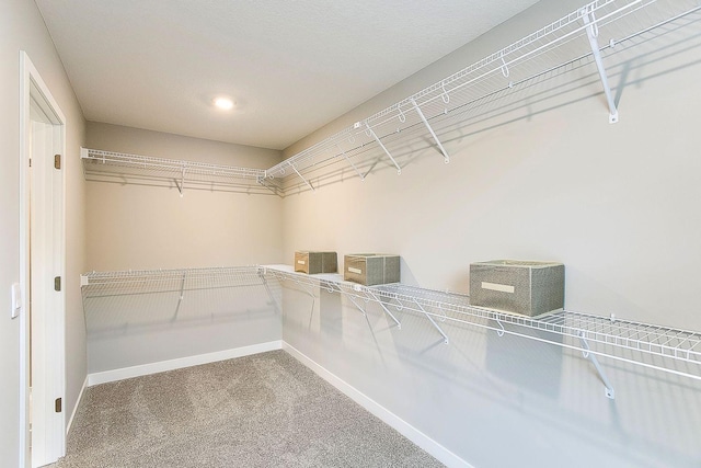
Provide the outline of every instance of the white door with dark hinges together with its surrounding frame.
[[[21,463],[39,467],[66,453],[65,118],[26,56],[21,116],[22,389]],[[58,279],[57,279],[58,278]]]

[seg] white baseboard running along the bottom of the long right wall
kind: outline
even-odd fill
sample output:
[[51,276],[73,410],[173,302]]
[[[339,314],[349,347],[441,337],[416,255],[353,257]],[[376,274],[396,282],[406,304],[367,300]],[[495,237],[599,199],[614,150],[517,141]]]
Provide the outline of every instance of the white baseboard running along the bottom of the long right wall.
[[358,391],[355,387],[350,386],[343,379],[336,377],[334,374],[329,372],[326,368],[317,364],[310,357],[302,354],[300,351],[295,349],[292,345],[283,342],[283,350],[289,353],[297,361],[309,367],[313,370],[318,376],[326,380],[329,384],[333,385],[341,392],[345,393],[348,398],[350,398],[356,403],[360,404],[370,413],[375,414],[377,418],[382,420],[386,424],[395,429],[400,434],[404,437],[412,441],[414,444],[426,450],[438,461],[445,464],[448,467],[455,468],[473,468],[472,465],[468,464],[466,460],[428,437],[426,434],[409,424],[406,421],[399,418],[397,414],[389,411],[387,408],[382,407],[377,401],[367,397],[365,393]]

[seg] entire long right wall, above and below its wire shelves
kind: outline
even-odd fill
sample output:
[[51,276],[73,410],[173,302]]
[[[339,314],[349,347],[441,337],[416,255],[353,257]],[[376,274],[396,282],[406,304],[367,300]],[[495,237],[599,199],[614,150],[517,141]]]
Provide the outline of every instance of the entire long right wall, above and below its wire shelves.
[[[286,155],[577,5],[539,2]],[[284,202],[287,263],[297,249],[398,253],[402,282],[469,293],[470,262],[555,260],[566,265],[571,310],[701,330],[701,22],[693,18],[606,60],[620,98],[616,125],[596,69],[573,67],[445,134],[448,165],[417,144],[393,147],[401,175],[379,155],[365,182],[350,168],[341,182],[312,176],[317,192]],[[380,308],[370,304],[364,316],[324,290],[310,312],[309,297],[287,287],[287,343],[474,466],[701,463],[697,380],[602,358],[617,389],[611,401],[578,353],[448,323],[446,346],[421,317],[398,310],[399,330]]]

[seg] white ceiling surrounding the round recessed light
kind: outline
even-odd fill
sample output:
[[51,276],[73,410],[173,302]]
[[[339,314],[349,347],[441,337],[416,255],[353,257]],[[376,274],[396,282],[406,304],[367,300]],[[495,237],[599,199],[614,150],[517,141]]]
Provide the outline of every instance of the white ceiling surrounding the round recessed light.
[[283,149],[536,0],[36,3],[88,121]]

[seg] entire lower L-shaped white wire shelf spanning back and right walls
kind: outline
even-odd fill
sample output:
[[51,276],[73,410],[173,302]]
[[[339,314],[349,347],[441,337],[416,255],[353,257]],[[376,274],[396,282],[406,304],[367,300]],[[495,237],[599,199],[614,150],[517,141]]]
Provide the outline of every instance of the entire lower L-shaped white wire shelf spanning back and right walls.
[[443,324],[451,323],[579,351],[596,366],[609,398],[614,396],[613,388],[595,356],[701,380],[701,332],[570,310],[531,318],[471,306],[466,295],[399,283],[363,286],[344,281],[340,274],[296,273],[289,265],[91,272],[81,275],[81,289],[83,300],[157,293],[179,293],[182,300],[188,290],[264,287],[278,308],[274,284],[268,278],[295,283],[311,297],[319,288],[340,293],[364,315],[368,304],[376,304],[399,329],[401,313],[418,315],[429,321],[446,344],[449,336]]

